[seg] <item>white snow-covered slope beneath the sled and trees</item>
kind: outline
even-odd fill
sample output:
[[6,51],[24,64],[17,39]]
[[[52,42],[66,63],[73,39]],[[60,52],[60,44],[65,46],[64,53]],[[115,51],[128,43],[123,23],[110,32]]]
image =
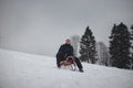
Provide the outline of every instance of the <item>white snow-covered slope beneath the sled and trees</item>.
[[133,72],[83,63],[58,69],[55,58],[0,50],[0,88],[133,88]]

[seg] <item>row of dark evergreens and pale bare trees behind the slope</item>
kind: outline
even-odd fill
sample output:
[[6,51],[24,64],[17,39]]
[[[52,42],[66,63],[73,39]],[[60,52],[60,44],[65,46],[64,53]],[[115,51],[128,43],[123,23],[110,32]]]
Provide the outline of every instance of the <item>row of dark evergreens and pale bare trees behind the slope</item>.
[[123,22],[114,24],[109,36],[109,47],[95,41],[89,26],[81,37],[75,35],[71,40],[74,54],[78,55],[79,50],[82,62],[133,69],[133,25],[129,29]]

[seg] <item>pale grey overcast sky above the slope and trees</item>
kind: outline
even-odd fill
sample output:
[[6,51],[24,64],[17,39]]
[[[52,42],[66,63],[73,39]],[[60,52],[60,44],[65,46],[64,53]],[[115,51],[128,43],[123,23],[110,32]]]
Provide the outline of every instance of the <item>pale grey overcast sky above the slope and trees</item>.
[[54,56],[88,25],[109,46],[120,22],[133,24],[133,0],[0,0],[0,47]]

